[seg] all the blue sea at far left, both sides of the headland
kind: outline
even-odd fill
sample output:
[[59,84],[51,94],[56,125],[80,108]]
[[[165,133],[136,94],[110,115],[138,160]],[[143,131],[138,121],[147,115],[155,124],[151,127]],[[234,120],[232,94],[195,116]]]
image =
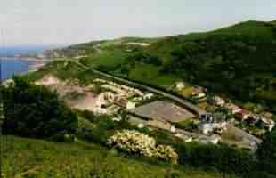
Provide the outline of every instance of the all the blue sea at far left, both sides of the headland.
[[12,56],[14,54],[27,53],[42,53],[46,46],[12,46],[0,48],[0,80],[4,81],[13,76],[17,76],[28,72],[29,67],[34,64],[34,61],[26,61],[20,58],[5,58],[5,56]]

